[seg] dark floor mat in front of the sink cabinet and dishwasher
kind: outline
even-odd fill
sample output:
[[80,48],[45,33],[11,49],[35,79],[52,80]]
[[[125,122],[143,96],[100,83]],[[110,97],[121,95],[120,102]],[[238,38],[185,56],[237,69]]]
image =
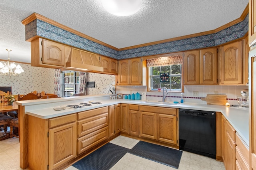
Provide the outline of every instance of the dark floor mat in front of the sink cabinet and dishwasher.
[[140,141],[128,153],[178,169],[182,151]]

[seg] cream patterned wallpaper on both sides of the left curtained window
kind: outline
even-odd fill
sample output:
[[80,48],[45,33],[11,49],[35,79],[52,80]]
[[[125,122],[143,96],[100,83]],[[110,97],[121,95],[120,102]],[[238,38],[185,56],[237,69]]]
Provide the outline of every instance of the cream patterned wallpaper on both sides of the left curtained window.
[[[11,86],[12,94],[27,94],[34,90],[54,93],[54,68],[34,67],[30,64],[20,64],[24,72],[17,76],[1,76],[0,86]],[[109,88],[113,91],[116,76],[88,72],[87,81],[95,82],[95,88],[87,88],[88,95],[107,94]],[[61,93],[62,94],[62,93]]]

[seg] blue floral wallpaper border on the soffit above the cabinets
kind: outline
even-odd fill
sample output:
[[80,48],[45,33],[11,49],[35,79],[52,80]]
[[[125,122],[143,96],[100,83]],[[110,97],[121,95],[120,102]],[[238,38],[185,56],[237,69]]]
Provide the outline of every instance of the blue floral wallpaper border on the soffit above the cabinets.
[[133,57],[173,53],[221,45],[223,43],[244,37],[244,35],[248,32],[248,18],[249,16],[247,15],[246,18],[240,23],[232,25],[217,33],[123,51],[116,51],[114,49],[105,47],[104,45],[100,45],[84,37],[80,37],[74,33],[38,19],[27,24],[25,26],[25,31],[26,40],[38,35],[40,37],[45,37],[60,43],[65,43],[73,47],[84,49],[86,51],[106,55],[114,59],[129,59]]

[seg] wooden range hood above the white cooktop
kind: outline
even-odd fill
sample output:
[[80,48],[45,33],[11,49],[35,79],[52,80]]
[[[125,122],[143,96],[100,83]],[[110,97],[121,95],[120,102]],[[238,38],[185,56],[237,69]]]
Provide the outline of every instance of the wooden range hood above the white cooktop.
[[103,72],[103,67],[97,55],[75,48],[72,48],[68,61],[66,62],[66,67],[62,69]]

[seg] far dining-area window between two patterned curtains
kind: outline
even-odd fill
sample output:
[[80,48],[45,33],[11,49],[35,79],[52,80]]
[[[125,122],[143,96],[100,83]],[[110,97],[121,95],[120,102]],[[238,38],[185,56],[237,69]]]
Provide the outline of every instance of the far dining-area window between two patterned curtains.
[[75,93],[79,93],[79,72],[64,71],[63,77],[63,96],[70,97]]

